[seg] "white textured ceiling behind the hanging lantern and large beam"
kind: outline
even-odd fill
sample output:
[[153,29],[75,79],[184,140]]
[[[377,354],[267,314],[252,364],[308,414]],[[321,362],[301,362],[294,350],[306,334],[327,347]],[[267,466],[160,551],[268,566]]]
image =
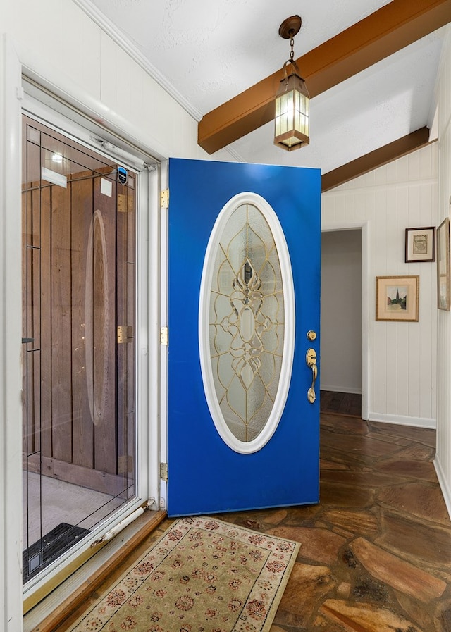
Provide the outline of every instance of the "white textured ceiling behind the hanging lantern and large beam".
[[[302,56],[388,0],[93,0],[200,116],[283,66],[278,27],[299,14]],[[311,100],[310,145],[273,146],[268,123],[213,159],[321,168],[326,173],[424,125],[431,127],[443,29]],[[300,68],[302,73],[302,68]]]

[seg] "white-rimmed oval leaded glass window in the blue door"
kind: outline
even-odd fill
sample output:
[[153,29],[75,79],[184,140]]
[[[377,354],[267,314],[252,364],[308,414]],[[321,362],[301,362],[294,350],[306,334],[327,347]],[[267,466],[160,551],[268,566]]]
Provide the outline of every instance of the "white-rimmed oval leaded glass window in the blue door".
[[290,387],[295,298],[280,222],[257,194],[223,207],[206,249],[199,300],[204,391],[221,438],[257,452],[275,432]]

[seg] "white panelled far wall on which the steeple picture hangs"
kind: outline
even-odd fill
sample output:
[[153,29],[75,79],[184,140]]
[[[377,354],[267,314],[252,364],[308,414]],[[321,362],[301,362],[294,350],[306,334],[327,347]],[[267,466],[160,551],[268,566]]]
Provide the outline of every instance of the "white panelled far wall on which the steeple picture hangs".
[[[363,326],[374,421],[435,427],[435,264],[404,263],[404,230],[437,225],[437,156],[438,144],[430,144],[322,196],[323,230],[367,228]],[[376,275],[419,275],[418,323],[376,322]]]

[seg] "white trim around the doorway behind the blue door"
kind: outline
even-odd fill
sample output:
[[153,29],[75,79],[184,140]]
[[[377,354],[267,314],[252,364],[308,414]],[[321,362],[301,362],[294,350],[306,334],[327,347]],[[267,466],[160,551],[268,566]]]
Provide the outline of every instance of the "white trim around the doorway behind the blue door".
[[321,233],[339,230],[362,230],[362,419],[369,419],[369,223],[328,222],[321,223]]

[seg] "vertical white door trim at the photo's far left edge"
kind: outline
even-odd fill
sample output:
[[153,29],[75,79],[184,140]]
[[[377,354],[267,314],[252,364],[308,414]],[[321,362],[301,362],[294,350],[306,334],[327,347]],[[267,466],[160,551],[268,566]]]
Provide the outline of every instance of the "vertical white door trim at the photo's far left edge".
[[19,632],[23,625],[20,96],[20,62],[11,39],[0,35],[0,628],[5,632]]

